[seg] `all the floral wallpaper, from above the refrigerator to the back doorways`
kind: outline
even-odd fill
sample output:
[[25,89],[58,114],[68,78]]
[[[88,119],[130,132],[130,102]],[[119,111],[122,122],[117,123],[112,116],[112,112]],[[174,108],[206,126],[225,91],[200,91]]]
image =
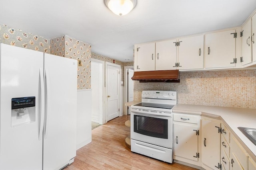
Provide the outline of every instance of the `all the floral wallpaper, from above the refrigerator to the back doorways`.
[[[0,43],[81,60],[82,66],[78,66],[77,75],[78,90],[91,88],[91,57],[114,63],[114,59],[92,53],[91,45],[88,43],[84,43],[67,35],[52,38],[49,41],[39,35],[34,35],[20,29],[14,29],[4,24],[0,24],[0,35]],[[121,81],[124,81],[124,66],[132,66],[133,62],[123,63],[115,60],[115,64],[121,65]],[[124,86],[124,84],[121,86]]]

